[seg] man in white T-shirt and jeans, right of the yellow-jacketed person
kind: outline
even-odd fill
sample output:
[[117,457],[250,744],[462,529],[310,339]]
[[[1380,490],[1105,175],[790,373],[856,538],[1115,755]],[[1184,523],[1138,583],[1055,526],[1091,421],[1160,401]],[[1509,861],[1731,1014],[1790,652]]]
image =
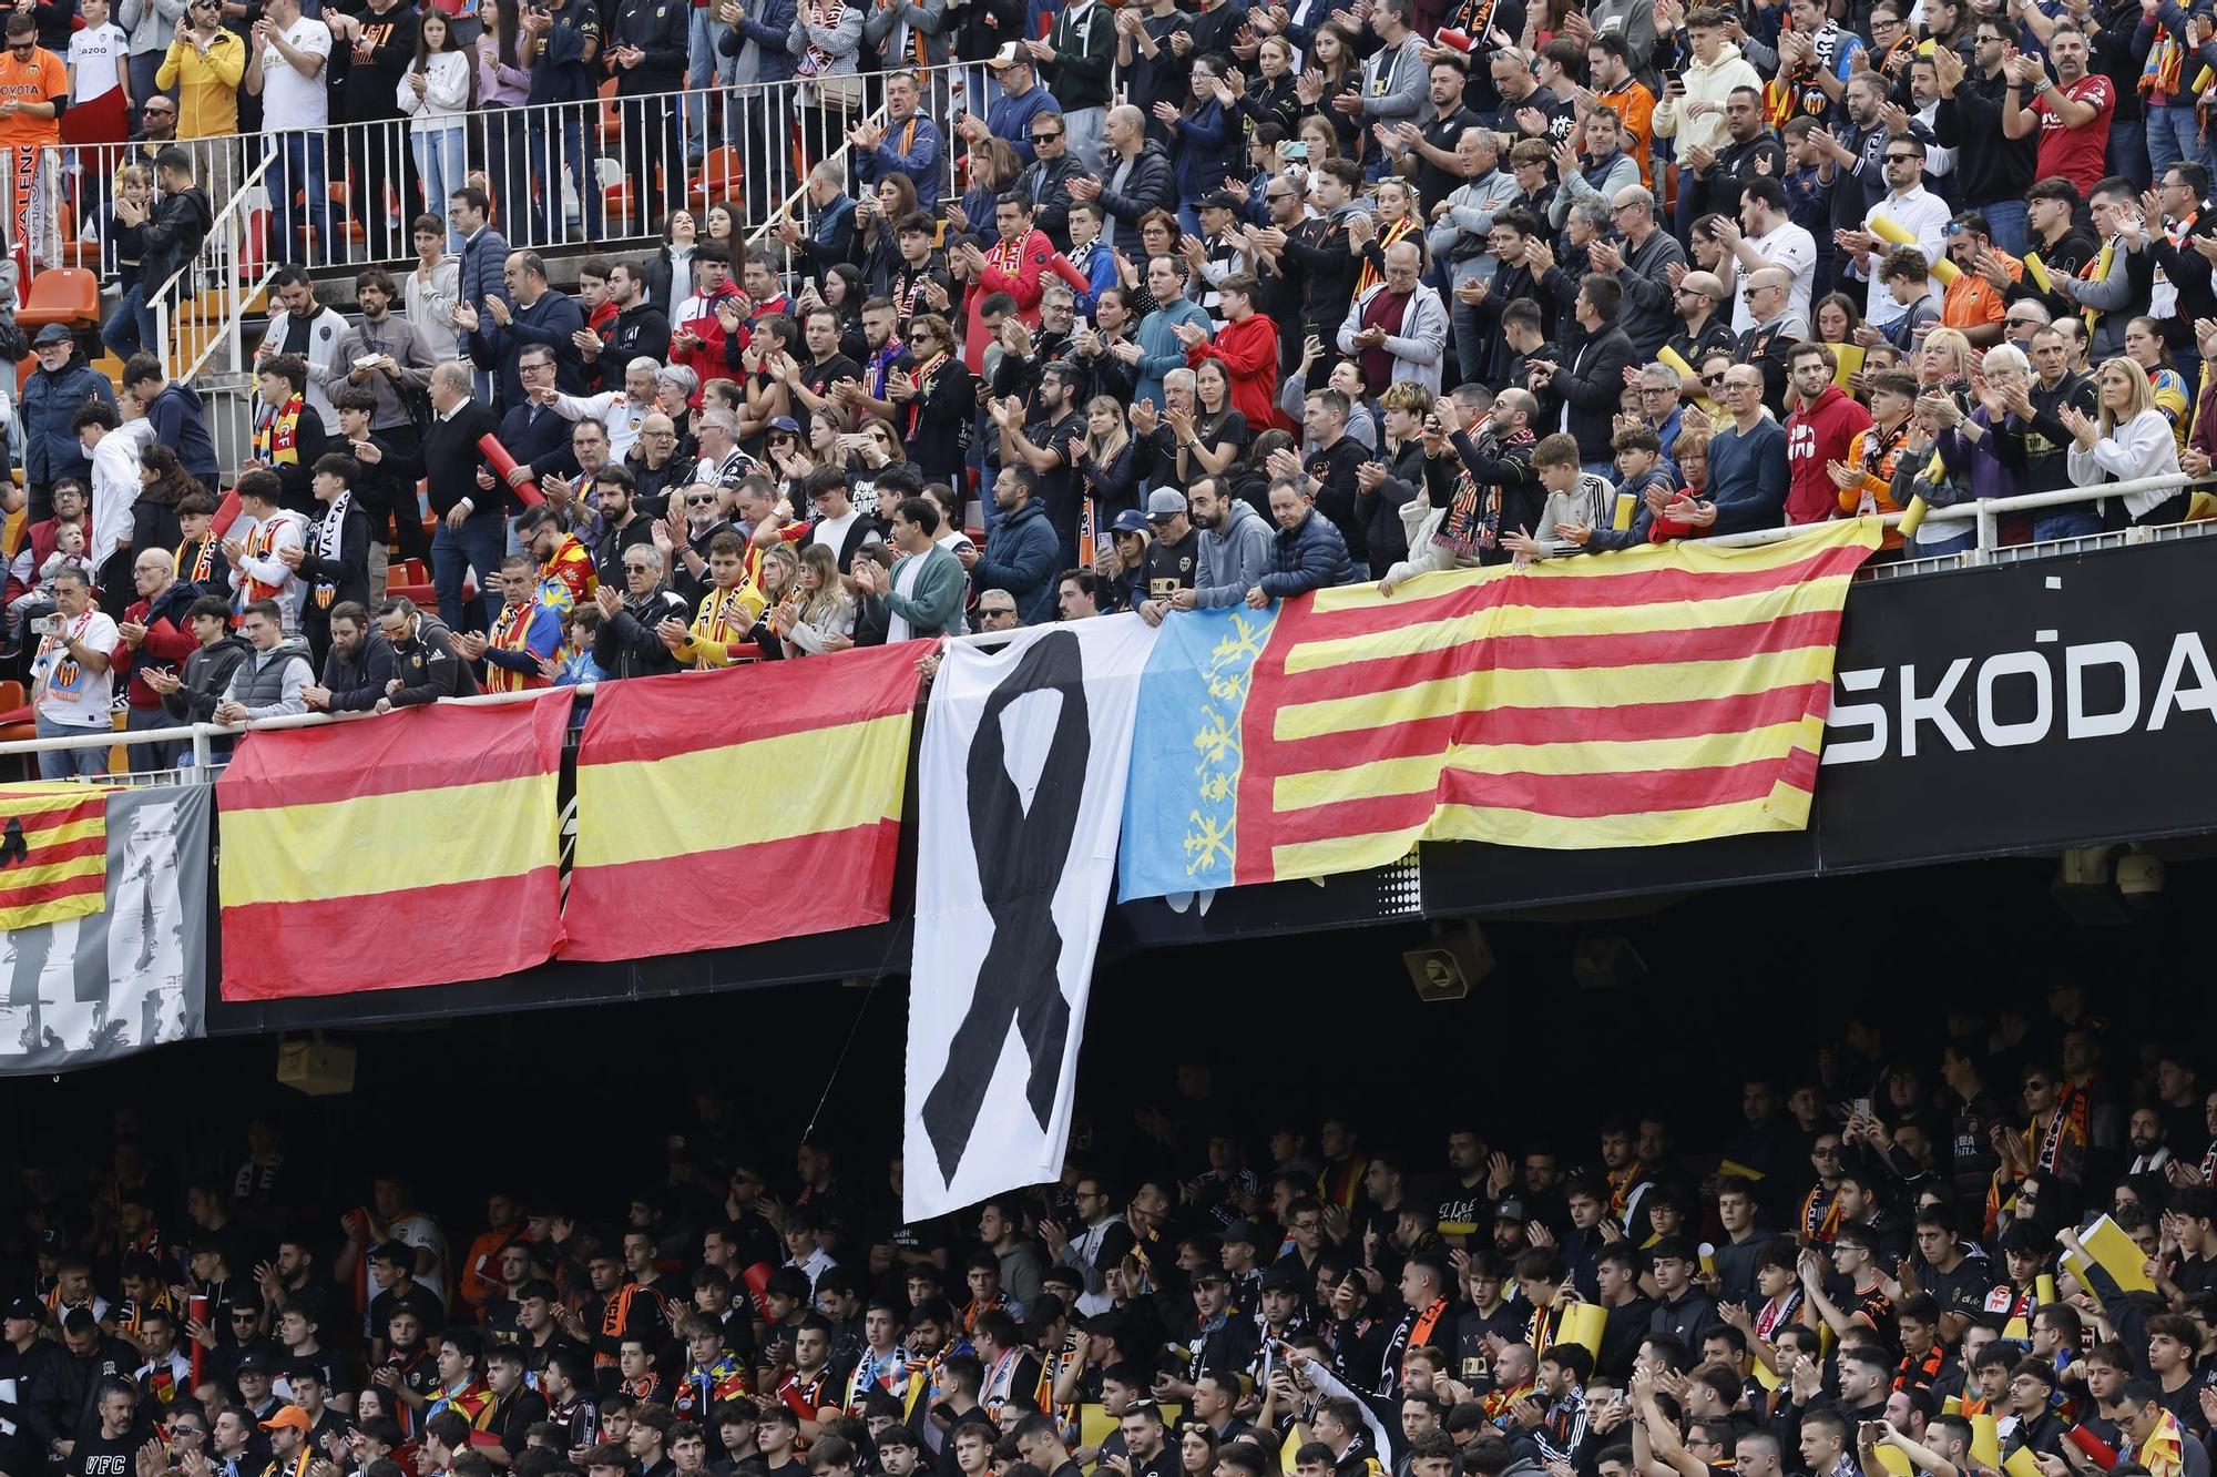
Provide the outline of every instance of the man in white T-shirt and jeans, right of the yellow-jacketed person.
[[[275,0],[253,24],[246,55],[246,93],[262,100],[262,142],[270,155],[268,184],[275,208],[264,246],[277,262],[330,262],[330,193],[324,137],[330,131],[330,27],[308,20],[299,0]],[[306,217],[299,213],[306,200]],[[313,244],[310,235],[313,233]]]

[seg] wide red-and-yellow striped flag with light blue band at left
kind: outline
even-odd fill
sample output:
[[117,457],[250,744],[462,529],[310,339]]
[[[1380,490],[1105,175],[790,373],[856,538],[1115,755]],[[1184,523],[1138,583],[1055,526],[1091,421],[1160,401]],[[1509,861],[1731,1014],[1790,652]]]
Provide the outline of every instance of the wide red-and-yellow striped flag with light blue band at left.
[[1148,661],[1122,898],[1388,865],[1419,841],[1802,829],[1871,519],[1177,614]]

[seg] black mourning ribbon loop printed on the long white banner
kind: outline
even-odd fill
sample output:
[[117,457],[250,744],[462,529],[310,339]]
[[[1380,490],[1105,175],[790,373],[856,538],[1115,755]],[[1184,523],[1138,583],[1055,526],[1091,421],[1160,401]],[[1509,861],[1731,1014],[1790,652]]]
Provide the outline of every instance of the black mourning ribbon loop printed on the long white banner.
[[[1024,798],[1009,776],[1000,716],[1033,692],[1062,694],[1062,714],[1055,719],[1055,734],[1040,765],[1040,783],[1031,792],[1031,809],[1024,809]],[[978,894],[993,918],[993,943],[978,965],[978,985],[949,1042],[947,1067],[924,1098],[924,1131],[938,1151],[940,1175],[949,1184],[978,1127],[978,1109],[1000,1062],[1000,1047],[1009,1038],[1011,1016],[1031,1051],[1024,1096],[1042,1131],[1055,1111],[1071,1007],[1055,974],[1062,931],[1055,927],[1053,898],[1071,858],[1091,750],[1093,727],[1086,719],[1077,636],[1066,630],[1046,632],[993,687],[978,719],[978,736],[971,738],[971,852],[978,858]]]

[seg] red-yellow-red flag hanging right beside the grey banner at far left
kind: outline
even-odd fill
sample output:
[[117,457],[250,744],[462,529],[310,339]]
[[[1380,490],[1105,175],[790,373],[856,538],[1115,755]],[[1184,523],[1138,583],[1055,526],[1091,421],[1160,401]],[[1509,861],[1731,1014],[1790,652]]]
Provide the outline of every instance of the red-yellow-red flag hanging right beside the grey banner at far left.
[[224,998],[452,985],[561,943],[570,690],[248,734],[215,783]]

